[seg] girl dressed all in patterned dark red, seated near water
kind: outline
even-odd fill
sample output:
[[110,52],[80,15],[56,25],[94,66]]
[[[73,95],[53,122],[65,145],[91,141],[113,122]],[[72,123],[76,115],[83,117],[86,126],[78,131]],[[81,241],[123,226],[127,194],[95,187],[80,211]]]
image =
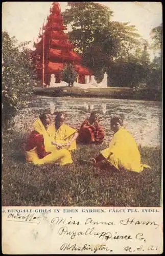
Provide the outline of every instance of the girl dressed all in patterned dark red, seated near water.
[[98,122],[98,115],[95,111],[91,112],[88,120],[84,120],[80,130],[78,141],[83,144],[101,144],[104,139],[104,130]]

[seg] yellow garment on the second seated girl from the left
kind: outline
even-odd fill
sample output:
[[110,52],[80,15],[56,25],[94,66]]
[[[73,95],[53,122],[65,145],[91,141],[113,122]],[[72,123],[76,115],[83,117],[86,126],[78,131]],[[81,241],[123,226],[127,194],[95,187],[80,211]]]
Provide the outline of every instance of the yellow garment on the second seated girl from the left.
[[[52,140],[57,143],[65,144],[68,143],[77,131],[67,124],[63,123],[59,129],[56,131],[55,123],[51,124],[48,128],[48,133],[50,134]],[[64,147],[67,150],[76,150],[76,140],[69,146]]]

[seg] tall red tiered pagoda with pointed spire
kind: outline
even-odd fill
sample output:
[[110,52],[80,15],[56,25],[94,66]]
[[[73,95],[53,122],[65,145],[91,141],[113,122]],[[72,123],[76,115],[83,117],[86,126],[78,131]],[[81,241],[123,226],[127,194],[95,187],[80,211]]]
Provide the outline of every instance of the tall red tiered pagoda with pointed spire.
[[67,63],[74,65],[79,83],[85,83],[85,75],[92,75],[92,71],[81,66],[81,56],[73,51],[74,46],[64,30],[66,27],[63,25],[60,5],[53,2],[46,24],[43,23],[42,34],[40,31],[37,42],[34,42],[34,63],[38,79],[45,86],[50,84],[52,74],[55,75],[56,83],[61,82],[61,71]]

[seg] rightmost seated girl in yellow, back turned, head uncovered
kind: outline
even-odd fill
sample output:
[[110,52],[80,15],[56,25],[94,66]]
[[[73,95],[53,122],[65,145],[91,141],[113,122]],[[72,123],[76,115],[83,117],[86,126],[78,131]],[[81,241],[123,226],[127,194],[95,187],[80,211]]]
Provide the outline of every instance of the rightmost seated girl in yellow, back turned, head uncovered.
[[132,135],[123,127],[122,119],[118,117],[111,118],[111,130],[114,132],[112,141],[109,147],[102,150],[100,155],[95,159],[90,159],[96,167],[100,167],[102,162],[106,160],[109,167],[116,170],[125,170],[133,172],[141,172],[144,167],[150,166],[141,164],[140,153],[137,144]]

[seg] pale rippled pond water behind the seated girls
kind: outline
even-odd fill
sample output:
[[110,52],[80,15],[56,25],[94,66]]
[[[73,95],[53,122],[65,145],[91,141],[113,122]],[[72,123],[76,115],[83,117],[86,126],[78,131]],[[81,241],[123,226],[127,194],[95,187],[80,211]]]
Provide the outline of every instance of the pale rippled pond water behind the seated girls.
[[[55,112],[54,112],[55,110]],[[105,142],[112,136],[110,118],[114,115],[123,118],[123,125],[142,146],[161,145],[161,102],[125,99],[74,98],[33,96],[28,107],[15,117],[15,129],[32,130],[32,122],[42,112],[67,114],[66,123],[80,127],[82,121],[94,110],[99,114],[100,124],[105,130]],[[54,112],[54,113],[53,113]]]

